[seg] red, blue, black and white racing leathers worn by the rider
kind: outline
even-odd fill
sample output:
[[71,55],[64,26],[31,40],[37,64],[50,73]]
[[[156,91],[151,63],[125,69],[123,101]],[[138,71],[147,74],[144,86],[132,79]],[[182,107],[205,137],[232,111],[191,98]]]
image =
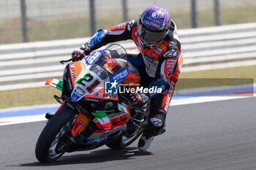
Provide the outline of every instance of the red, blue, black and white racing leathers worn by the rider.
[[[183,62],[181,44],[178,40],[176,24],[171,21],[167,36],[153,48],[144,49],[138,39],[138,20],[130,20],[118,26],[97,31],[86,44],[80,47],[86,55],[111,42],[132,39],[140,50],[136,58],[142,58],[142,64],[135,63],[140,71],[140,85],[162,88],[162,93],[148,94],[151,98],[151,113],[148,133],[156,136],[165,132],[165,117],[178,81]],[[159,121],[160,120],[160,121]],[[163,130],[164,129],[164,130]]]

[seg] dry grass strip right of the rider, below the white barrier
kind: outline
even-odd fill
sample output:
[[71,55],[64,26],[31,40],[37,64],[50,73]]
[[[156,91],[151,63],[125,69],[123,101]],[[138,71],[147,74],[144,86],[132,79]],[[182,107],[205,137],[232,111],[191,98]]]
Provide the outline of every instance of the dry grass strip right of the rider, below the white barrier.
[[181,72],[176,84],[176,90],[222,85],[245,85],[253,82],[256,82],[256,66]]

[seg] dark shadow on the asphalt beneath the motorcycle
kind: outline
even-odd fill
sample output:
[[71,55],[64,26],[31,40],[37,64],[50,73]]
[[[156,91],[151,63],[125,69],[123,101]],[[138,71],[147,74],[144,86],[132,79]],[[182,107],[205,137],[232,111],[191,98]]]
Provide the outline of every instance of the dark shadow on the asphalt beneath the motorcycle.
[[63,155],[53,163],[22,163],[19,166],[59,166],[80,163],[102,163],[108,161],[118,161],[134,159],[136,156],[153,155],[151,152],[140,152],[137,147],[129,147],[123,150],[96,150],[85,154]]

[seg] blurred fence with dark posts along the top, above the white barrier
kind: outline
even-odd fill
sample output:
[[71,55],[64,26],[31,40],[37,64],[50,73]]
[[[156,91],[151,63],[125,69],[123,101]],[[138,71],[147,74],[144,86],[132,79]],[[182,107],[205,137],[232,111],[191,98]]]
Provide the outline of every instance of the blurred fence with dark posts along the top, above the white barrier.
[[178,28],[256,22],[255,0],[2,0],[0,43],[90,36],[151,5],[166,7]]

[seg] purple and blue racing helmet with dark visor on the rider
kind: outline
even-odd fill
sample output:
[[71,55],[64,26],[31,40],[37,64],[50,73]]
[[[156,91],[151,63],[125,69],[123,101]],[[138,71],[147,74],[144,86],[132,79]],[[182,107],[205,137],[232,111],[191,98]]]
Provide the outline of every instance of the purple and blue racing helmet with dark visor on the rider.
[[165,39],[170,20],[170,13],[164,7],[151,6],[143,11],[138,23],[140,45],[148,49]]

